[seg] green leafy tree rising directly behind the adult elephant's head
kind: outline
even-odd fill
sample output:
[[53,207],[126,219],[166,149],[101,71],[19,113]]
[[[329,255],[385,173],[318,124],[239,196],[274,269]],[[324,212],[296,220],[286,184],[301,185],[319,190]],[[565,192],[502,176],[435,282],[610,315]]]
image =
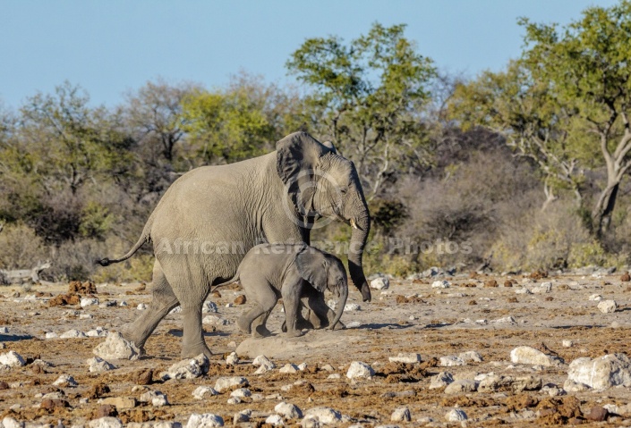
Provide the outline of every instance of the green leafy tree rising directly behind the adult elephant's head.
[[353,159],[369,199],[388,178],[428,158],[422,109],[436,71],[404,31],[375,23],[347,45],[310,38],[286,63],[312,88],[305,122]]

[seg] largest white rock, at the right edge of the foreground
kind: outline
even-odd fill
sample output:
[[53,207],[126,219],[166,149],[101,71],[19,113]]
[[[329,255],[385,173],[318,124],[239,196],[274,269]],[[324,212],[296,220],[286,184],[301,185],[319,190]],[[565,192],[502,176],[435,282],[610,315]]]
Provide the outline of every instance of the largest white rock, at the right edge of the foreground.
[[628,388],[631,387],[631,362],[625,354],[577,358],[569,365],[567,379],[597,390],[617,385]]

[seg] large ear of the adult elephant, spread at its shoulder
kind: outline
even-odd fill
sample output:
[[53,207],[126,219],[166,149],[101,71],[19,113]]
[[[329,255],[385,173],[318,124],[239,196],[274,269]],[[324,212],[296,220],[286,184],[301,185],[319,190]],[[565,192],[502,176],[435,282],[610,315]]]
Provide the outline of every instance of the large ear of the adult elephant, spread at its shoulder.
[[301,214],[313,214],[314,170],[321,156],[335,153],[306,132],[294,132],[276,144],[278,177],[285,183],[289,196]]

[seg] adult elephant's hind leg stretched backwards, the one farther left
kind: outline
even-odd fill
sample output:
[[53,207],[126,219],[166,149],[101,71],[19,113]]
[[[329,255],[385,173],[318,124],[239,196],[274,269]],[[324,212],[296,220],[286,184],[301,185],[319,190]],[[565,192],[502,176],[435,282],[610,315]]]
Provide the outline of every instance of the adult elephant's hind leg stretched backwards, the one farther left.
[[171,310],[180,304],[175,297],[171,285],[166,281],[165,273],[158,260],[153,264],[152,298],[149,308],[142,312],[133,323],[127,324],[123,331],[123,337],[132,341],[141,352],[144,353],[145,341],[156,329],[158,323]]

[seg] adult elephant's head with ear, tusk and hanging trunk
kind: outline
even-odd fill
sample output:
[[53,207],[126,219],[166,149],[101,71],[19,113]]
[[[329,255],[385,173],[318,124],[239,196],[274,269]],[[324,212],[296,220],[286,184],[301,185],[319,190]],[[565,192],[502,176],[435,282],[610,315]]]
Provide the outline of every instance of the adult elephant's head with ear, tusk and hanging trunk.
[[353,228],[348,272],[363,301],[371,300],[362,268],[363,249],[371,231],[371,215],[354,164],[305,132],[277,142],[277,172],[285,183],[292,220],[310,229],[321,217],[341,220]]

